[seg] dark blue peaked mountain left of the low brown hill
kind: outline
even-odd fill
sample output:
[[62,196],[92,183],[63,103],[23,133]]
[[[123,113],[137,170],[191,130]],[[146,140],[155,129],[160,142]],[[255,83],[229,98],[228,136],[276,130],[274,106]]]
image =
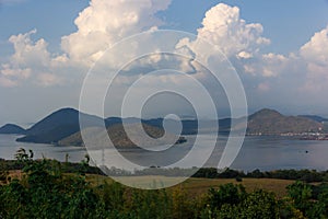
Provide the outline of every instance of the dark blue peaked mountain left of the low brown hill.
[[59,110],[26,130],[26,136],[17,141],[35,143],[56,143],[80,130],[79,115],[86,124],[86,127],[99,126],[103,122],[97,116],[92,116],[73,108]]

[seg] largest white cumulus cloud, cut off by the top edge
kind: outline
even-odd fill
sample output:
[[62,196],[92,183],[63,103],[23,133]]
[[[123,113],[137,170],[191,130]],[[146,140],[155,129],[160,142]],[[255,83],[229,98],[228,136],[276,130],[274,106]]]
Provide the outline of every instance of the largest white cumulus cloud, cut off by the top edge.
[[90,66],[118,41],[161,25],[155,13],[169,3],[171,0],[92,0],[75,19],[78,31],[62,37],[61,48],[72,61]]

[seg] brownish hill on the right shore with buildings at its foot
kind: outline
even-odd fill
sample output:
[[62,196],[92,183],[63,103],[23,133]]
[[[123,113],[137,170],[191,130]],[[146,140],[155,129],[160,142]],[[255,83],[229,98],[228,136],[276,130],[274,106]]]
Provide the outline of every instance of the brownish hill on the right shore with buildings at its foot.
[[300,116],[284,116],[263,108],[248,117],[247,135],[282,135],[320,131],[323,124]]

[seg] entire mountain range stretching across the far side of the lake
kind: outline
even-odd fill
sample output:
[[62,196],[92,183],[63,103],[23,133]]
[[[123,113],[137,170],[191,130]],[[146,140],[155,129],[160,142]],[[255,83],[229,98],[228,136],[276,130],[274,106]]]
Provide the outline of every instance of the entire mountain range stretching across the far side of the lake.
[[[103,119],[94,115],[80,113],[74,108],[61,108],[46,116],[28,129],[23,129],[13,124],[7,124],[0,128],[0,134],[24,135],[24,137],[17,138],[17,141],[23,142],[81,145],[77,142],[79,141],[79,138],[77,138],[77,136],[79,136],[80,131],[79,116],[84,122],[84,128],[105,126],[107,128],[107,131],[116,131],[116,134],[113,132],[114,136],[118,135],[121,131],[120,128],[118,128],[119,126],[115,125],[121,125],[122,123],[136,124],[137,122],[140,122],[139,118],[133,117],[108,117],[106,119]],[[236,118],[223,118],[219,120],[181,120],[181,135],[195,135],[198,131],[210,132],[215,130],[214,127],[218,124],[221,134],[229,134],[231,129],[238,129],[238,125],[236,127],[231,127],[232,119]],[[148,129],[150,130],[149,134],[159,134],[160,130],[163,130],[163,118],[152,118],[141,119],[141,123],[143,124],[143,127],[148,127]],[[238,123],[238,119],[236,119],[235,122]],[[323,132],[325,131],[325,122],[328,122],[328,119],[319,116],[284,116],[274,110],[263,108],[248,116],[247,135],[284,135],[309,131]],[[199,123],[201,123],[202,127],[200,130],[198,130]],[[165,127],[172,130],[172,134],[175,134],[176,130],[174,128],[177,127],[177,120],[165,120]],[[116,128],[110,129],[112,126]],[[124,135],[120,135],[120,137],[124,139],[120,142],[127,142],[127,139]]]

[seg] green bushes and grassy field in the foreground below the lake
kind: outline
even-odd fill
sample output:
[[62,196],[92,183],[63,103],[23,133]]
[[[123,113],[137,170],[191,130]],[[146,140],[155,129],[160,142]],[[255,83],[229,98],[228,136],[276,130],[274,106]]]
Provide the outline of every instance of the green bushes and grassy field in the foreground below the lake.
[[[263,178],[223,181],[226,184],[192,178],[172,188],[141,191],[85,174],[87,159],[67,173],[65,163],[32,157],[19,151],[17,175],[2,169],[0,218],[328,218],[327,183],[286,181],[282,196],[249,189],[247,182]],[[204,189],[190,195],[195,186]]]

